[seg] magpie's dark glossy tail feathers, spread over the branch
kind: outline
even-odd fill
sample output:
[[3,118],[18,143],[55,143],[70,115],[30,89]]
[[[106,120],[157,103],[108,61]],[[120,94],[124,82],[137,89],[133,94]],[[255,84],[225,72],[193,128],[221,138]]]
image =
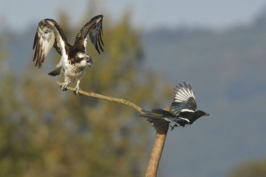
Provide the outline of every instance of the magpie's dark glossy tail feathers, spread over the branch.
[[169,114],[168,111],[165,111],[163,109],[153,109],[151,111],[142,110],[142,112],[144,113],[140,114],[139,116],[147,118],[147,121],[153,123],[154,127],[164,126],[169,123],[167,120],[164,120],[162,118],[164,114]]

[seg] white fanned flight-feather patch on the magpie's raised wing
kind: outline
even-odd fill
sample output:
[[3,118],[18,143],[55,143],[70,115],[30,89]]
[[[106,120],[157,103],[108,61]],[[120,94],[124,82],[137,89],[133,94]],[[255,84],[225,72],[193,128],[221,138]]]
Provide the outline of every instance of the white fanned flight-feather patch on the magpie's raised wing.
[[188,101],[190,97],[194,98],[195,100],[195,94],[191,86],[190,85],[187,86],[185,82],[184,82],[184,86],[185,87],[183,87],[180,83],[179,83],[179,87],[176,85],[176,88],[174,88],[175,90],[174,101],[184,102],[184,101]]

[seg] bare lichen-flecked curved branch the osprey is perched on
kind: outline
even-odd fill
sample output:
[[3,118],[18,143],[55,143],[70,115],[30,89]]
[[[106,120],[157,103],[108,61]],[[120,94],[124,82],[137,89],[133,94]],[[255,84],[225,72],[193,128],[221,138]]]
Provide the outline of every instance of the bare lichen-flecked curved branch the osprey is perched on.
[[[60,82],[57,81],[57,84],[60,84]],[[67,87],[67,89],[74,91],[74,88],[72,87]],[[107,101],[122,103],[124,105],[134,108],[140,113],[143,113],[141,111],[142,110],[141,107],[127,100],[123,100],[120,98],[114,98],[114,97],[108,97],[108,96],[104,96],[104,95],[93,93],[93,92],[84,92],[82,90],[79,90],[78,93],[83,94],[88,97],[95,97],[95,98],[100,98],[100,99],[107,100]],[[169,111],[169,108],[166,108],[164,110]],[[156,128],[156,136],[155,136],[155,140],[152,146],[151,156],[150,156],[147,171],[146,171],[146,177],[155,177],[157,175],[157,169],[158,169],[159,161],[160,161],[160,158],[163,152],[164,142],[166,139],[168,128],[169,128],[168,124],[165,126]]]

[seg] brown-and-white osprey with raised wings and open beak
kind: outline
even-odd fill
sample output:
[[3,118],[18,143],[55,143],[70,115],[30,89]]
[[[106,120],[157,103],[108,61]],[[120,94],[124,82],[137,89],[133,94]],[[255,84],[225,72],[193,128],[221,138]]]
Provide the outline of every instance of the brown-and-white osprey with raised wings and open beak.
[[53,46],[61,55],[61,60],[56,65],[56,69],[49,72],[48,75],[63,75],[65,77],[65,82],[60,84],[63,91],[67,90],[66,87],[71,81],[77,81],[77,86],[74,90],[74,94],[77,94],[78,90],[80,90],[80,80],[85,75],[85,67],[90,67],[92,64],[91,56],[86,53],[88,37],[99,54],[98,44],[103,51],[101,46],[101,43],[103,45],[101,36],[102,19],[103,15],[98,15],[86,23],[78,32],[73,46],[68,44],[62,28],[55,20],[41,20],[33,44],[33,50],[36,46],[33,58],[33,62],[36,60],[35,68],[38,65],[38,70],[41,68],[45,57]]

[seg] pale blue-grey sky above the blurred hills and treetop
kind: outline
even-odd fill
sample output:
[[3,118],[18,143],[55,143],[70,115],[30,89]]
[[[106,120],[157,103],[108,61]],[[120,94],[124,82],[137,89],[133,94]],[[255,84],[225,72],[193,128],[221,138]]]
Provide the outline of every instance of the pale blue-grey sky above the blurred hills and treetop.
[[[15,27],[19,26],[23,31],[29,24],[37,24],[42,19],[56,20],[59,11],[63,9],[69,12],[72,16],[70,21],[75,25],[79,22],[75,19],[82,13],[92,11],[90,4],[94,2],[96,1],[1,0],[0,29],[8,27],[15,31]],[[250,23],[264,6],[266,6],[265,0],[98,0],[97,10],[93,12],[93,15],[102,14],[105,10],[112,20],[119,20],[121,14],[130,10],[132,25],[140,29],[176,28],[184,25],[226,29],[232,25]]]

